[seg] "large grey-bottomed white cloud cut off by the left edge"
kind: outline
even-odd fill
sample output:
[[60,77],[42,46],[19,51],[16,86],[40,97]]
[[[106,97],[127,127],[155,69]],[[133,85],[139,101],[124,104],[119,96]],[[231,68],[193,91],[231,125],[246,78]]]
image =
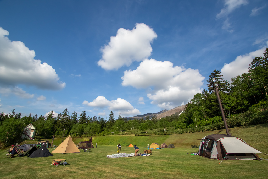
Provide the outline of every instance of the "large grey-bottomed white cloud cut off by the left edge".
[[33,50],[29,50],[23,42],[10,41],[8,35],[9,32],[0,27],[0,83],[52,90],[65,87],[50,65],[35,60]]

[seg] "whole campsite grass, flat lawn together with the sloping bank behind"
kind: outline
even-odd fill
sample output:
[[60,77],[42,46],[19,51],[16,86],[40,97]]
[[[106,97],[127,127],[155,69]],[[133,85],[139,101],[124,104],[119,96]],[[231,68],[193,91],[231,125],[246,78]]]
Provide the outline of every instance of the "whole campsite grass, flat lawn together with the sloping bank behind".
[[[232,134],[267,154],[267,127],[267,124],[237,127],[232,129]],[[267,178],[268,160],[224,160],[219,164],[219,160],[187,154],[198,151],[196,146],[200,141],[195,138],[214,133],[217,131],[169,136],[97,136],[92,137],[92,141],[98,143],[98,148],[91,152],[80,149],[81,153],[53,154],[44,158],[7,158],[5,149],[0,151],[0,178]],[[73,138],[75,143],[81,139]],[[54,143],[56,141],[59,144],[61,139],[55,139]],[[173,143],[176,149],[152,150],[151,156],[107,158],[116,153],[118,142],[123,153],[134,152],[127,147],[130,143],[136,144],[140,153],[152,142]],[[48,149],[53,151],[53,148]],[[267,158],[265,154],[259,156]],[[68,165],[50,165],[53,159],[67,159]]]

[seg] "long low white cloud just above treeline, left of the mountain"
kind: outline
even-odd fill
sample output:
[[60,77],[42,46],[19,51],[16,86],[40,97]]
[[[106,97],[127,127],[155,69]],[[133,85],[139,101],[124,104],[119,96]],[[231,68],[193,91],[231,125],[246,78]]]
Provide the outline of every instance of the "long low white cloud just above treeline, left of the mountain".
[[84,101],[82,104],[95,108],[107,108],[111,111],[116,111],[118,114],[121,113],[122,116],[140,114],[138,109],[134,108],[128,101],[121,98],[109,101],[104,96],[98,96],[92,102]]

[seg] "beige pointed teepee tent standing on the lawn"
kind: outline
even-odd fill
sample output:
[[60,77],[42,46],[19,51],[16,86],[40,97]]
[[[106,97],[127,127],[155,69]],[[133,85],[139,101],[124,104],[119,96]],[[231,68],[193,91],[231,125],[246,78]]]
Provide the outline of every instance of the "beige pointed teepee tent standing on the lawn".
[[69,136],[51,153],[67,154],[78,152],[80,152],[79,149],[76,147],[75,143],[73,143],[72,137]]

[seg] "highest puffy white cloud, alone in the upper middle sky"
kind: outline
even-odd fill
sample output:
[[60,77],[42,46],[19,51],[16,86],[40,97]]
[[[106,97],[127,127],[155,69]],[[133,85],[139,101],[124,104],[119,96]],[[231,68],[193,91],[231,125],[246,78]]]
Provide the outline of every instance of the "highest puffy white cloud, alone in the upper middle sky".
[[151,55],[151,42],[157,34],[148,25],[137,23],[132,30],[120,28],[116,36],[101,48],[102,59],[98,65],[105,70],[118,70],[129,66],[133,61],[141,61]]

